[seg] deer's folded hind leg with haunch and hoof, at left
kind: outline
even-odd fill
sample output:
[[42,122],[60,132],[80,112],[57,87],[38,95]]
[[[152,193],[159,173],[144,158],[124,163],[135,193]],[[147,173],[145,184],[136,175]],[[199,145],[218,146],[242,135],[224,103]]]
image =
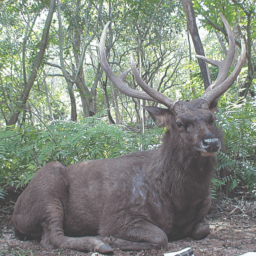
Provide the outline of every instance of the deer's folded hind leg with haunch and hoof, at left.
[[67,205],[68,178],[60,163],[42,167],[16,202],[12,216],[16,235],[41,238],[44,248],[69,248],[113,253],[113,249],[95,237],[64,236],[64,206]]

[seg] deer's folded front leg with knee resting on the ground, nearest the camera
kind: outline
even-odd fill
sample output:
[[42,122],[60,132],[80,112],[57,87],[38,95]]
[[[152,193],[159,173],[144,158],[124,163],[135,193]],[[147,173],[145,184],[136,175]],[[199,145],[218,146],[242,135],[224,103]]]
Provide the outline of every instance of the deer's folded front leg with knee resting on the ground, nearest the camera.
[[101,237],[101,239],[111,247],[120,248],[122,251],[161,249],[168,243],[166,233],[146,220],[123,225],[114,236]]

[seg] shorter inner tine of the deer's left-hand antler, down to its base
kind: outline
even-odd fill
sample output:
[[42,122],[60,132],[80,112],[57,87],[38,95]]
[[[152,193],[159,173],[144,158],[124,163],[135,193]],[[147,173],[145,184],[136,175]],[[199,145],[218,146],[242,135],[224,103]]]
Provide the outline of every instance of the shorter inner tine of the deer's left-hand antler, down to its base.
[[141,76],[139,75],[138,69],[136,69],[132,54],[130,55],[130,62],[134,78],[138,85],[141,87],[141,89],[143,89],[146,94],[154,98],[155,101],[157,101],[158,103],[161,103],[166,107],[172,108],[176,101],[172,100],[161,92],[158,92],[157,90],[151,88],[142,80]]

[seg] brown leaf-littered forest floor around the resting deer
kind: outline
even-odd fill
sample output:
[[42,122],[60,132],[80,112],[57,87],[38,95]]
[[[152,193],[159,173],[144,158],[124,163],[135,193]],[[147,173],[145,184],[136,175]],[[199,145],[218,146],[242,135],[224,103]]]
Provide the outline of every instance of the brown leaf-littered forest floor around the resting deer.
[[[38,241],[19,241],[14,236],[11,215],[18,193],[11,192],[6,200],[0,199],[0,255],[2,256],[99,256],[74,250],[42,249]],[[163,256],[163,253],[191,247],[195,256],[237,256],[256,251],[256,200],[246,199],[241,193],[236,200],[213,200],[207,215],[210,235],[201,241],[190,238],[170,242],[165,250],[129,251],[116,249],[114,256]]]

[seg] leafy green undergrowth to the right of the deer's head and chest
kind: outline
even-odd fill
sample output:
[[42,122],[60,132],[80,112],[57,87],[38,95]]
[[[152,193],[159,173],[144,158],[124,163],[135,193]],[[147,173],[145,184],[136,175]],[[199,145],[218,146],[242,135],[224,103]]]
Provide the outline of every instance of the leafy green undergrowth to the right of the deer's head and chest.
[[239,104],[227,103],[225,109],[220,109],[218,123],[225,135],[227,153],[219,153],[218,169],[228,165],[231,175],[217,178],[213,181],[215,189],[222,185],[228,191],[244,187],[249,193],[256,193],[256,102]]

